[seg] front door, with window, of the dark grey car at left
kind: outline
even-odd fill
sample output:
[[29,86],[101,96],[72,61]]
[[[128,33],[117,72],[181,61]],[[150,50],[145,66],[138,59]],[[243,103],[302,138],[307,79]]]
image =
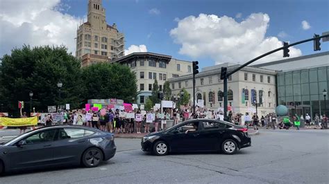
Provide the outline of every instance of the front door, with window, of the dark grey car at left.
[[15,144],[8,146],[6,155],[10,159],[10,167],[12,169],[22,169],[52,165],[52,145],[57,131],[57,129],[37,131],[35,134],[22,139],[26,141],[26,144],[17,146],[19,140]]

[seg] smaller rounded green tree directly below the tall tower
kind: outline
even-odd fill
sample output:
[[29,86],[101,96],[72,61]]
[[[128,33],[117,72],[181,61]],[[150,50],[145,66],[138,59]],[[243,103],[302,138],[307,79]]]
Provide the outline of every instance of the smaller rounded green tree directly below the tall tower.
[[85,100],[117,98],[133,102],[137,97],[136,75],[128,66],[100,63],[83,68]]

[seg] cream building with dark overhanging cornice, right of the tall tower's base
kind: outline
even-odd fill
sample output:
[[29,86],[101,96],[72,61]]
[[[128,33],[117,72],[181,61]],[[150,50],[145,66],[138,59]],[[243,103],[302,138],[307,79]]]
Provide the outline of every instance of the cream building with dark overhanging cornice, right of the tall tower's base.
[[192,62],[171,58],[170,55],[157,53],[131,53],[113,62],[125,64],[134,71],[137,78],[137,88],[140,91],[138,104],[144,104],[146,97],[151,95],[155,79],[162,91],[163,84],[172,77],[192,73]]

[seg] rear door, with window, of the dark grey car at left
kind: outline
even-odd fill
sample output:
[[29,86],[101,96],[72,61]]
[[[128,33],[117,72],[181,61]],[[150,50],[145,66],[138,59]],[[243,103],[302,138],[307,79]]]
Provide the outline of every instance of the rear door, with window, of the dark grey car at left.
[[94,131],[79,128],[61,128],[53,144],[53,158],[58,164],[80,163],[83,151],[89,146],[88,136]]

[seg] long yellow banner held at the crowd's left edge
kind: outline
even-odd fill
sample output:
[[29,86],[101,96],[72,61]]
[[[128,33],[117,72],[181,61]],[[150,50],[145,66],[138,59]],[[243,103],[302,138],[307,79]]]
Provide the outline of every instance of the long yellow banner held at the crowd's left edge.
[[31,118],[3,118],[0,117],[0,126],[23,127],[37,125],[37,116]]

